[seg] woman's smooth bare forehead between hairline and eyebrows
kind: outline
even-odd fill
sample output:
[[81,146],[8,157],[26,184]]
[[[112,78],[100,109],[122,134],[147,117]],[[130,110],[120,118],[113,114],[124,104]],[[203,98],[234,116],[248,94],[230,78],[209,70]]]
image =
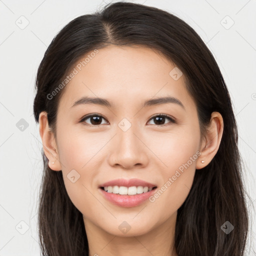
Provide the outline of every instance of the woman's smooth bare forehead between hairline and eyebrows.
[[175,68],[162,54],[146,47],[114,45],[94,50],[71,68],[69,73],[75,74],[60,104],[71,107],[80,97],[90,96],[109,99],[117,107],[166,95],[184,101],[184,105],[193,103],[185,89],[184,75],[173,79]]

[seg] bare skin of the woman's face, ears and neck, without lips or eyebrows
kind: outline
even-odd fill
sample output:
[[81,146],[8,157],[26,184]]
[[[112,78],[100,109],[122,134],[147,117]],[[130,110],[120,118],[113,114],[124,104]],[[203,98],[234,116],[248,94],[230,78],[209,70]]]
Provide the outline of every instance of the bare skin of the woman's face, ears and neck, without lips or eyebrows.
[[[58,105],[56,136],[46,112],[40,113],[39,131],[49,167],[62,170],[67,193],[83,214],[90,255],[177,255],[173,246],[177,209],[189,193],[195,169],[216,154],[223,120],[213,112],[200,141],[195,102],[185,89],[184,75],[177,80],[169,75],[174,66],[149,48],[107,46],[66,85]],[[175,103],[142,107],[145,100],[166,95],[176,97],[185,109]],[[102,97],[113,106],[71,107],[82,96]],[[97,127],[92,118],[79,122],[90,113],[103,116]],[[178,123],[163,117],[167,125],[162,126],[152,118],[161,113]],[[127,131],[118,126],[123,118],[131,123]],[[197,151],[200,155],[153,202],[120,207],[98,190],[100,183],[120,177],[143,179],[160,189]],[[80,175],[75,183],[67,178],[72,169]],[[118,228],[123,221],[131,227],[126,233]]]

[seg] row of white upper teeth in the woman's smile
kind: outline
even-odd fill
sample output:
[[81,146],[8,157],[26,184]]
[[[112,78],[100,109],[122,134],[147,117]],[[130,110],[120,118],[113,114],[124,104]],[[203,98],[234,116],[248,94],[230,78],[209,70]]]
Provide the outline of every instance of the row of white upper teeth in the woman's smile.
[[141,194],[146,193],[148,191],[152,190],[152,187],[148,186],[104,186],[104,190],[108,193],[114,193],[114,194]]

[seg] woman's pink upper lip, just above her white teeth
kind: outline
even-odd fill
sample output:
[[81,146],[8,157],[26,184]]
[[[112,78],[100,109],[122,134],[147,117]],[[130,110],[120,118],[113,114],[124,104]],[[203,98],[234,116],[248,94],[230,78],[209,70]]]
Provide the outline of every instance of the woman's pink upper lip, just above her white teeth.
[[123,179],[123,178],[117,178],[113,179],[110,181],[107,181],[105,183],[102,183],[99,185],[99,187],[104,187],[104,186],[148,186],[148,187],[154,187],[156,186],[155,184],[152,184],[150,182],[144,181],[142,179],[137,179],[137,178],[131,178],[131,179]]

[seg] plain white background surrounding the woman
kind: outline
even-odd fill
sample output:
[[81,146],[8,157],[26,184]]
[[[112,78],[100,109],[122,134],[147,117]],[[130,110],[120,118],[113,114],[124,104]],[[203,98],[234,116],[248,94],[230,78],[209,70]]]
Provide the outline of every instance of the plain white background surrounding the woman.
[[[238,123],[246,189],[253,201],[249,205],[250,224],[255,233],[256,0],[133,2],[177,15],[195,29],[213,53]],[[42,144],[32,112],[39,62],[66,23],[102,5],[101,0],[0,0],[0,256],[40,254],[36,204]],[[25,17],[21,17],[22,24],[29,22],[24,29],[15,23],[21,23],[21,15]],[[226,29],[232,20],[234,24]],[[21,118],[28,123],[23,131],[16,126]],[[27,224],[24,234],[17,231],[25,231],[26,224],[20,221]],[[255,255],[255,245],[251,246],[246,255]]]

